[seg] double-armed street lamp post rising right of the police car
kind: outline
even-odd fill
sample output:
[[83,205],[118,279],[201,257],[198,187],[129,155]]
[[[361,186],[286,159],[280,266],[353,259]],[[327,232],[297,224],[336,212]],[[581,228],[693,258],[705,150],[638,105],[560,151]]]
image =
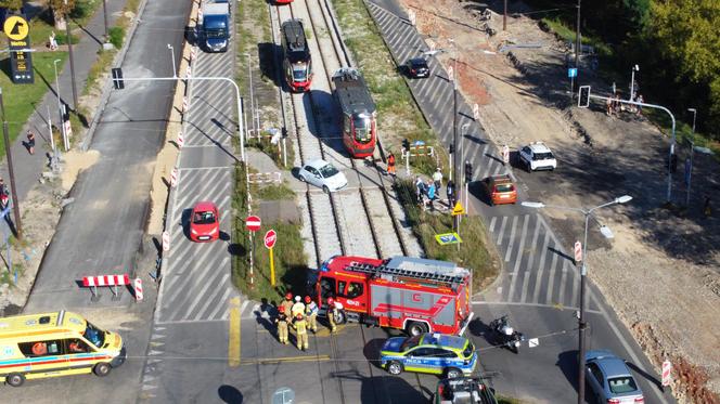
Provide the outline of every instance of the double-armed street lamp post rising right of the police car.
[[[588,274],[588,269],[586,265],[586,262],[588,261],[588,222],[590,221],[590,218],[593,216],[593,212],[597,209],[605,208],[607,206],[616,205],[616,204],[626,204],[628,201],[632,200],[632,196],[630,195],[623,195],[620,197],[617,197],[613,199],[609,203],[603,204],[595,206],[594,208],[586,209],[586,208],[570,208],[566,206],[556,206],[556,205],[545,205],[542,203],[535,203],[535,201],[524,201],[522,205],[528,208],[554,208],[554,209],[564,209],[564,210],[573,210],[576,212],[580,212],[584,216],[584,236],[582,237],[582,266],[580,270],[580,311],[578,315],[578,346],[579,346],[579,366],[578,366],[578,404],[583,404],[584,403],[584,368],[586,368],[586,338],[584,338],[584,333],[586,333],[586,321],[584,321],[584,307],[586,307],[586,298],[584,298],[584,289],[586,289],[586,275]],[[601,226],[600,232],[605,238],[613,238],[613,232],[607,227],[607,226]]]

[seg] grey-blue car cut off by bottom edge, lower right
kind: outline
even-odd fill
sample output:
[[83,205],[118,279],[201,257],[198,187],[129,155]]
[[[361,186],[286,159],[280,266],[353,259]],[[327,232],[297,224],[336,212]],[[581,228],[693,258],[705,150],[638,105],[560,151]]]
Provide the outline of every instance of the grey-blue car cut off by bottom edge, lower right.
[[645,402],[640,386],[625,361],[606,350],[586,353],[586,380],[595,402],[602,404],[641,404]]

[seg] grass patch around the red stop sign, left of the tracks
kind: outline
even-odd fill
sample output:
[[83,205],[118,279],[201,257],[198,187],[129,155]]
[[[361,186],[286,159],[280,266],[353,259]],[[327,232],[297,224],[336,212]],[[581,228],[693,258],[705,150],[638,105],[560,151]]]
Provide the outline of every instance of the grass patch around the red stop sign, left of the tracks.
[[[255,233],[253,248],[255,287],[249,287],[249,233],[245,229],[245,217],[248,212],[245,192],[247,182],[242,166],[235,168],[235,188],[233,194],[233,284],[252,299],[266,298],[277,300],[286,290],[305,290],[307,273],[306,258],[300,236],[300,225],[294,223],[263,222],[260,231]],[[285,185],[263,186],[254,195],[263,199],[290,199],[295,194]],[[265,248],[262,236],[273,229],[278,232],[278,243],[273,248],[275,266],[275,287],[270,285],[270,257]]]

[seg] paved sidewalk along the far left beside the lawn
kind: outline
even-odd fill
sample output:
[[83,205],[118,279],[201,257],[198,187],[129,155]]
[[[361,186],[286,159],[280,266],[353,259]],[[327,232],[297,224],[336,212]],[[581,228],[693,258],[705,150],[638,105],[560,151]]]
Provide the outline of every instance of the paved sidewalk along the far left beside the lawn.
[[[107,0],[107,24],[112,27],[120,15],[126,0]],[[95,14],[92,16],[87,26],[74,31],[75,35],[80,37],[80,42],[73,45],[73,60],[75,62],[75,79],[77,86],[78,99],[82,95],[82,89],[88,79],[90,67],[98,58],[98,51],[102,48],[101,38],[105,32],[105,24],[103,17],[103,6],[100,4]],[[59,66],[60,67],[60,66]],[[73,109],[73,90],[70,83],[70,68],[69,58],[65,63],[62,73],[59,70],[60,81],[60,96],[61,100],[67,103]],[[36,77],[36,80],[40,80]],[[35,113],[23,127],[15,142],[11,145],[13,168],[15,173],[15,192],[20,198],[21,214],[23,214],[23,201],[27,197],[28,192],[35,185],[43,171],[50,171],[48,154],[50,153],[50,138],[48,129],[48,107],[50,107],[50,119],[53,126],[60,122],[60,115],[57,112],[57,93],[54,88],[55,81],[52,78],[52,88],[48,89],[42,102],[35,106]],[[88,120],[92,117],[88,116]],[[35,155],[30,155],[23,141],[25,141],[25,133],[31,130],[35,133],[36,146]],[[73,128],[74,136],[73,142],[77,144],[81,139],[79,138],[83,130],[81,128]],[[62,144],[56,145],[64,154]],[[10,186],[10,177],[8,173],[8,161],[5,156],[2,156],[2,164],[0,165],[0,175],[5,179],[5,183]]]

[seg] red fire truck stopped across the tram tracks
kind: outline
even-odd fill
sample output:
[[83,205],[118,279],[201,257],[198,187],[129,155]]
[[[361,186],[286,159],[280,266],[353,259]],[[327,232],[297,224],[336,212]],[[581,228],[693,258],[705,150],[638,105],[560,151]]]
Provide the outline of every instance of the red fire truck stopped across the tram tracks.
[[452,262],[336,256],[323,262],[314,291],[321,313],[329,298],[343,304],[337,323],[400,328],[412,336],[461,335],[473,318],[471,285],[471,272]]

